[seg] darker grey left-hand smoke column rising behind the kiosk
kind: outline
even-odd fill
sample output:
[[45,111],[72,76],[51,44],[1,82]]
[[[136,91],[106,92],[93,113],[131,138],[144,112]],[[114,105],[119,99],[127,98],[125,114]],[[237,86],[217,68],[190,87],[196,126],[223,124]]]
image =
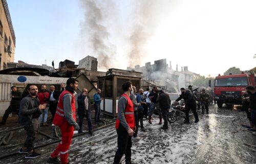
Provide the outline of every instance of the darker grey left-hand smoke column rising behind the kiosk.
[[94,55],[97,56],[100,66],[109,68],[111,66],[111,57],[116,54],[116,51],[115,46],[109,43],[110,33],[104,26],[106,18],[97,2],[81,0],[86,18],[82,25],[82,32],[87,34],[89,43],[92,46]]

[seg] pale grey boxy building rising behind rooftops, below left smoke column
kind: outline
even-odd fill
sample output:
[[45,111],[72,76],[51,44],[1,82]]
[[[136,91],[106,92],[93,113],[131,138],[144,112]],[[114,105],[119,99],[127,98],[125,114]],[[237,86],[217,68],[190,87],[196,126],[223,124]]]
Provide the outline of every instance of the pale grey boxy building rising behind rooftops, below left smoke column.
[[97,71],[98,68],[98,61],[97,58],[92,56],[87,56],[82,60],[79,60],[79,68],[84,68],[88,71]]

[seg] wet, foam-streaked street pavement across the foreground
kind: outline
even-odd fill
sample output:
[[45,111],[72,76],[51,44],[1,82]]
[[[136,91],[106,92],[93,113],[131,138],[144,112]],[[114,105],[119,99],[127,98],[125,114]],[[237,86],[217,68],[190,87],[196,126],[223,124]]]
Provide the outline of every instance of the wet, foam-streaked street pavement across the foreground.
[[[256,145],[253,136],[241,124],[248,123],[246,113],[241,110],[218,108],[210,105],[210,114],[199,114],[199,123],[182,124],[179,119],[168,130],[160,129],[157,115],[153,124],[144,120],[145,132],[140,131],[140,139],[133,139],[133,163],[256,163]],[[198,111],[200,113],[200,111]],[[86,122],[86,121],[84,121]],[[22,132],[23,129],[20,129]],[[25,133],[24,133],[25,134]],[[41,137],[40,142],[52,139]],[[18,137],[17,143],[18,142]],[[17,144],[16,144],[17,145]],[[46,160],[57,144],[36,149],[41,156],[24,159],[24,155],[14,155],[0,160],[0,163],[47,163]],[[0,152],[18,151],[15,144],[1,146]],[[70,163],[112,163],[117,150],[117,134],[114,125],[95,131],[91,136],[84,134],[73,138]],[[125,163],[122,158],[121,163]]]

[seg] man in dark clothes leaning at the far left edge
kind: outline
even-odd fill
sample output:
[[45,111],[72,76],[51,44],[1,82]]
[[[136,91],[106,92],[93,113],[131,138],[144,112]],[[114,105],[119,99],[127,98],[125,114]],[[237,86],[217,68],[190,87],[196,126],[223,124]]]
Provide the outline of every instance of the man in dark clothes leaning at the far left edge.
[[11,102],[10,106],[6,109],[5,114],[3,116],[2,125],[5,125],[6,120],[8,119],[9,114],[11,114],[14,111],[17,111],[19,109],[19,102],[22,100],[22,93],[17,90],[16,86],[11,87]]

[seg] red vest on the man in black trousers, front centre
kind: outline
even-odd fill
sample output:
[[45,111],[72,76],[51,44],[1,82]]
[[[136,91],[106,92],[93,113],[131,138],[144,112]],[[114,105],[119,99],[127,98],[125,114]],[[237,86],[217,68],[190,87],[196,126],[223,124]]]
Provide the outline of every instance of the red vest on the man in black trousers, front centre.
[[[128,101],[128,103],[125,107],[125,111],[124,111],[124,118],[126,120],[126,123],[129,125],[129,127],[131,129],[134,129],[134,127],[135,127],[135,118],[134,118],[133,102],[126,94],[123,94],[122,96],[124,96]],[[118,111],[119,111],[119,108],[118,108]],[[117,118],[116,119],[116,129],[118,129],[119,124],[120,124],[120,121]]]

